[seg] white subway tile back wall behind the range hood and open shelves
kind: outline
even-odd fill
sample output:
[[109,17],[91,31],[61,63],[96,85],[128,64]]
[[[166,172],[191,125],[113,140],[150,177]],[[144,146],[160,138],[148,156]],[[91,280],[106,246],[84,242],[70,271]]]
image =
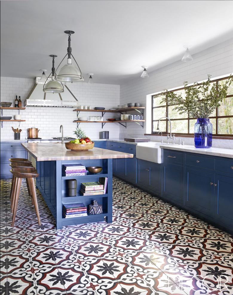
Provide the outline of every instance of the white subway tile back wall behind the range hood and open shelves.
[[[14,104],[15,96],[21,96],[22,102],[27,97],[28,93],[34,85],[34,79],[1,77],[1,102],[12,102]],[[77,83],[76,85],[69,84],[68,87],[79,100],[80,105],[92,105],[93,107],[117,107],[119,105],[120,87],[119,85],[111,84],[92,84]],[[14,116],[18,114],[17,110],[3,110],[3,116]],[[72,136],[73,130],[76,128],[76,112],[72,108],[53,108],[53,107],[26,107],[26,110],[21,110],[22,119],[26,122],[20,123],[21,139],[27,137],[27,128],[39,128],[39,137],[51,138],[61,136],[59,127],[62,124],[64,127],[64,136]],[[101,116],[101,113],[79,113],[79,116]],[[105,113],[104,119],[114,118],[119,114]],[[11,126],[17,128],[18,122],[3,122],[1,128],[2,139],[14,139],[14,133]],[[99,132],[108,130],[110,138],[118,138],[119,124],[105,124],[103,129],[101,123],[81,123],[79,125],[86,131],[87,136],[92,139],[99,139]]]

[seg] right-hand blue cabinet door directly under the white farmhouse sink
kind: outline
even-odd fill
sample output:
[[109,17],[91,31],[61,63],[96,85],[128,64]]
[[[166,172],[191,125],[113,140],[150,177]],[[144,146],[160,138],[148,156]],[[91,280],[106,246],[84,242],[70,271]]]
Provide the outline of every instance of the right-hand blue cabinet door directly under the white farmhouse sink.
[[162,193],[162,166],[160,164],[150,164],[149,189],[161,196]]

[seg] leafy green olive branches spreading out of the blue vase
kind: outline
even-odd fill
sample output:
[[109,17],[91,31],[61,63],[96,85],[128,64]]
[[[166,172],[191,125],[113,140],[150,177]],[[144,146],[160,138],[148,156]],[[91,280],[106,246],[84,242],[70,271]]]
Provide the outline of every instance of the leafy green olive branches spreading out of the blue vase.
[[227,89],[232,81],[233,77],[230,75],[226,83],[218,84],[216,87],[216,82],[211,83],[211,75],[208,75],[207,81],[201,84],[195,82],[187,86],[188,82],[184,82],[185,97],[165,89],[161,103],[174,105],[173,110],[177,110],[180,115],[189,113],[189,117],[192,118],[209,118],[226,98]]

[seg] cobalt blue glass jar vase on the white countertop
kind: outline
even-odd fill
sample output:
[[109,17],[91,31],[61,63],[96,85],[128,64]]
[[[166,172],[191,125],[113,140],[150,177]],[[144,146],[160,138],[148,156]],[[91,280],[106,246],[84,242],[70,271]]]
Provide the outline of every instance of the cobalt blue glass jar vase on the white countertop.
[[194,125],[194,145],[197,148],[212,146],[212,124],[209,119],[198,118]]

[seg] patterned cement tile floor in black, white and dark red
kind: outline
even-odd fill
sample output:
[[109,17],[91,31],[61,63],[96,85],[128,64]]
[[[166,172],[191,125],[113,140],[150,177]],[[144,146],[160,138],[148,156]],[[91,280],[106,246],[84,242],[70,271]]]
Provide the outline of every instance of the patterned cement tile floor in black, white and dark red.
[[117,178],[113,223],[55,229],[37,190],[42,226],[22,184],[11,227],[11,180],[1,180],[0,294],[233,294],[226,232]]

